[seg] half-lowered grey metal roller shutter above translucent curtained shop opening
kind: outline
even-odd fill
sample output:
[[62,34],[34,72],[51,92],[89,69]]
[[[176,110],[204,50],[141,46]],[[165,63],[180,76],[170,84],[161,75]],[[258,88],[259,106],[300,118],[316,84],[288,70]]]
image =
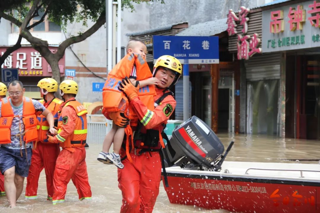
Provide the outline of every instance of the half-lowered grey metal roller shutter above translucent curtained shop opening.
[[247,80],[279,79],[280,53],[254,55],[244,63]]

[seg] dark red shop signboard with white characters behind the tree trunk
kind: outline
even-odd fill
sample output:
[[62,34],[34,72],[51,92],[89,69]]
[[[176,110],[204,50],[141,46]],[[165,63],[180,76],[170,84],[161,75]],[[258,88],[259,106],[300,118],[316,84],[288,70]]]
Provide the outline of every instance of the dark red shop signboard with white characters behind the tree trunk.
[[[7,47],[0,47],[0,55],[3,55]],[[49,47],[52,53],[57,51],[57,47]],[[1,65],[1,68],[17,68],[19,76],[52,76],[51,66],[32,47],[21,47],[12,52]],[[65,56],[59,61],[61,76],[64,76]]]

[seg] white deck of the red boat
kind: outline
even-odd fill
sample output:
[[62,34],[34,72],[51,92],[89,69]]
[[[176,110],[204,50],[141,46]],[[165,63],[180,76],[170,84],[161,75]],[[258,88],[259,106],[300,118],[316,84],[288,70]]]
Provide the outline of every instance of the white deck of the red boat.
[[293,179],[301,181],[319,181],[320,164],[290,164],[290,163],[259,163],[225,161],[220,172],[197,171],[181,169],[180,167],[166,168],[168,173],[185,173],[195,175],[222,175],[247,178]]

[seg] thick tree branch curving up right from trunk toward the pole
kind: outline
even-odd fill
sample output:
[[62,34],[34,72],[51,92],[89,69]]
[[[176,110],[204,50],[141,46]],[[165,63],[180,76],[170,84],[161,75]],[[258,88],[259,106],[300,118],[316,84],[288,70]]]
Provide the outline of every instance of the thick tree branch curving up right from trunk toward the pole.
[[74,43],[84,41],[86,38],[88,38],[93,33],[95,33],[102,25],[104,25],[104,23],[106,23],[106,15],[103,12],[103,13],[101,13],[97,22],[92,27],[90,27],[87,31],[85,31],[83,34],[78,35],[78,36],[74,36],[74,37],[70,37],[70,38],[66,39],[65,41],[63,41],[59,45],[58,50],[56,52],[56,56],[58,57],[58,59],[63,57],[64,51],[66,50],[66,48],[68,46],[70,46],[71,44],[74,44]]

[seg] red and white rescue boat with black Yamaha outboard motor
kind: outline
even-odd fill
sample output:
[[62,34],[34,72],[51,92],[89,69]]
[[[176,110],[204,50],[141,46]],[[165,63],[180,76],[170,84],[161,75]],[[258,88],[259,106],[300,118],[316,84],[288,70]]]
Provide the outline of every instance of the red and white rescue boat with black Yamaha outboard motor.
[[231,212],[320,212],[319,164],[224,161],[232,145],[224,152],[195,116],[178,126],[163,150],[169,201]]

